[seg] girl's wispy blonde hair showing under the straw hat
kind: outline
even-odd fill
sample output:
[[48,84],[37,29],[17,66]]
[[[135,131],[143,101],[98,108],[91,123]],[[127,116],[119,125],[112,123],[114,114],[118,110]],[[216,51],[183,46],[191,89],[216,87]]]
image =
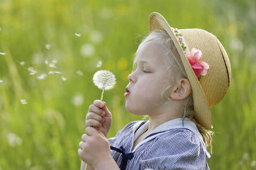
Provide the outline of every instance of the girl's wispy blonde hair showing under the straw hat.
[[[187,74],[181,62],[178,50],[174,46],[174,43],[170,38],[170,36],[164,30],[154,30],[150,32],[148,35],[142,38],[141,43],[139,44],[139,47],[146,42],[157,43],[161,45],[161,47],[163,48],[163,52],[164,52],[163,54],[166,59],[166,72],[167,72],[166,82],[168,83],[167,83],[167,87],[162,92],[162,97],[165,94],[165,97],[171,100],[166,95],[165,91],[167,91],[169,88],[172,87],[173,82],[181,78],[187,78]],[[133,70],[135,69],[134,66],[136,61],[136,53],[134,54],[134,56],[135,58],[133,62]],[[186,117],[190,118],[190,120],[192,120],[196,124],[198,131],[201,133],[203,137],[206,148],[210,146],[210,151],[212,154],[212,135],[214,133],[210,130],[206,130],[205,128],[203,128],[203,126],[196,121],[194,116],[195,116],[195,111],[194,111],[194,104],[193,104],[193,96],[191,92],[189,101],[187,104],[187,108],[186,108]],[[146,119],[146,117],[148,116],[144,116],[143,119]]]

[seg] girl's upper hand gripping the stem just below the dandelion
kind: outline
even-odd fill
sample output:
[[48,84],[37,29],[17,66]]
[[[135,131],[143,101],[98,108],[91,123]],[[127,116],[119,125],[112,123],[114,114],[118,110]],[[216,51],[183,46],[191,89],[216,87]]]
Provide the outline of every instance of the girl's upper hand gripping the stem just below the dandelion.
[[[102,106],[101,106],[102,104]],[[105,113],[104,113],[105,112]],[[102,132],[103,135],[108,138],[108,132],[112,124],[112,115],[109,112],[106,103],[100,100],[94,100],[90,105],[89,111],[85,118],[85,126],[92,127]]]

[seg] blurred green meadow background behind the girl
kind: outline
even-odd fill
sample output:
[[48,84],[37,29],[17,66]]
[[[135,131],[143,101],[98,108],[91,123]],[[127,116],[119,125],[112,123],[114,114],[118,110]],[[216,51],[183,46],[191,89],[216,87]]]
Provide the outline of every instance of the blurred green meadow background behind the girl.
[[[79,169],[85,116],[101,90],[98,70],[116,75],[103,101],[109,137],[141,120],[125,109],[133,54],[151,12],[171,27],[201,28],[225,47],[231,86],[211,108],[211,169],[256,169],[256,2],[0,1],[0,169]],[[31,69],[32,68],[32,69]]]

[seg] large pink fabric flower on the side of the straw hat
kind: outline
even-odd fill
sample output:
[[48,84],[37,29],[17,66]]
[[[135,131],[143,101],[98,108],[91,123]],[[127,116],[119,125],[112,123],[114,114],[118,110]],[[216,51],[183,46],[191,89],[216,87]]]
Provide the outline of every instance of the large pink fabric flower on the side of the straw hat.
[[202,52],[199,49],[192,48],[189,54],[186,54],[188,58],[188,62],[191,65],[196,77],[198,78],[200,75],[206,75],[207,70],[209,69],[209,64],[205,62],[199,62],[202,57]]

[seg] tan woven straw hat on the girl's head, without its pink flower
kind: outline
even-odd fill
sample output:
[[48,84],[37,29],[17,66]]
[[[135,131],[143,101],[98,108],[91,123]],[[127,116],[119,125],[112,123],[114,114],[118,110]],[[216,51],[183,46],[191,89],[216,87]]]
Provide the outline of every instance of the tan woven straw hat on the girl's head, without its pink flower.
[[[202,29],[174,29],[161,14],[153,12],[149,16],[149,32],[156,29],[165,30],[173,40],[192,87],[195,119],[209,130],[212,125],[210,108],[222,100],[230,86],[231,67],[224,47],[210,32]],[[179,37],[183,37],[182,41]],[[185,55],[192,48],[201,50],[200,61],[210,65],[207,74],[199,80]]]

